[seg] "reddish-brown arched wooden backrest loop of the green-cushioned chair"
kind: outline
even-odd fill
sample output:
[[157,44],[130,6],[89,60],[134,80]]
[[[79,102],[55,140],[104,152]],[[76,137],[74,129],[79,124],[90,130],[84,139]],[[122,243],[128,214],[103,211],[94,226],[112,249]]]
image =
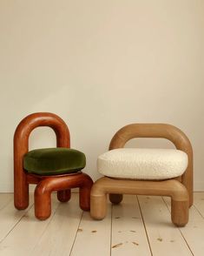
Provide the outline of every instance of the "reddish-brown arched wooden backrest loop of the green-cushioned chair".
[[23,172],[23,156],[29,151],[31,131],[39,126],[49,126],[55,131],[58,147],[70,146],[69,129],[62,118],[49,112],[33,113],[23,118],[14,134],[14,201],[17,209],[25,209],[29,205],[29,187]]

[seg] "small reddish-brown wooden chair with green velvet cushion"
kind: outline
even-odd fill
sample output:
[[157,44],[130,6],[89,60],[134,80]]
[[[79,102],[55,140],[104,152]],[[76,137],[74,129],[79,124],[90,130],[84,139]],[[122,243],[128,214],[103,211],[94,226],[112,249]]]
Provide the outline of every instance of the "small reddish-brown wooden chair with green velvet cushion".
[[[33,160],[29,152],[30,132],[38,126],[49,126],[55,131],[56,148],[33,151],[32,154],[36,158],[30,164],[30,159]],[[83,153],[71,150],[69,147],[69,129],[62,118],[47,112],[33,113],[23,118],[16,127],[14,135],[14,204],[16,209],[22,210],[28,207],[29,185],[36,184],[35,214],[37,219],[49,218],[51,213],[51,192],[57,192],[57,199],[59,201],[67,202],[71,196],[70,189],[74,187],[80,188],[80,207],[84,211],[89,211],[89,196],[93,181],[89,175],[80,171],[85,166],[85,156]],[[49,156],[50,152],[57,158],[53,159],[53,155]],[[45,158],[43,158],[43,162],[41,163],[42,154],[45,155]],[[76,164],[76,168],[74,168],[75,163],[72,163],[73,154],[81,160],[80,164]],[[49,159],[47,159],[48,156]],[[26,170],[24,168],[25,158],[27,158],[27,165],[34,165],[33,170]],[[62,164],[66,165],[65,170],[62,169],[60,163],[61,158],[65,162]],[[45,169],[44,161],[46,165],[50,165],[50,170]],[[71,166],[70,163],[72,163]],[[56,165],[54,171],[51,170],[52,164]],[[43,170],[38,170],[36,167],[41,165],[44,168],[44,172],[42,172]],[[57,165],[60,165],[62,170],[58,170]]]

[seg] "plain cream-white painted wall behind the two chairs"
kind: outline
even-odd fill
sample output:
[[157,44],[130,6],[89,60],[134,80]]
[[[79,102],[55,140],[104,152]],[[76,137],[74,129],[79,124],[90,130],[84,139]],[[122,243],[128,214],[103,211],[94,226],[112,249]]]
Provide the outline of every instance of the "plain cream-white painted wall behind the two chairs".
[[[65,120],[94,179],[123,125],[176,125],[194,146],[194,188],[204,190],[203,45],[203,0],[0,0],[0,192],[13,189],[15,127],[35,111]],[[30,146],[54,141],[41,128]]]

